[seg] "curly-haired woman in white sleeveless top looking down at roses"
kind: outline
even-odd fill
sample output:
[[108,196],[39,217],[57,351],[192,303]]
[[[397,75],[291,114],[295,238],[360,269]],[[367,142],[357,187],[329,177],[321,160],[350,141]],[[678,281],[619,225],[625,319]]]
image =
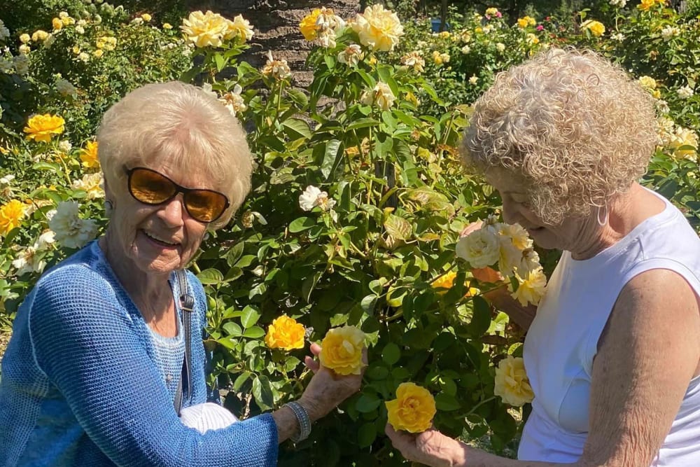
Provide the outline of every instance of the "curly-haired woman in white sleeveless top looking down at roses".
[[430,466],[700,466],[700,239],[638,179],[650,97],[594,53],[548,50],[499,74],[463,141],[503,217],[563,250],[538,307],[491,301],[528,333],[535,393],[518,459],[387,426]]

